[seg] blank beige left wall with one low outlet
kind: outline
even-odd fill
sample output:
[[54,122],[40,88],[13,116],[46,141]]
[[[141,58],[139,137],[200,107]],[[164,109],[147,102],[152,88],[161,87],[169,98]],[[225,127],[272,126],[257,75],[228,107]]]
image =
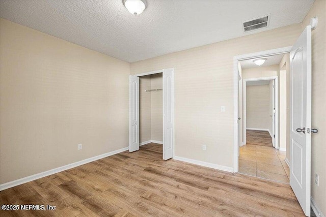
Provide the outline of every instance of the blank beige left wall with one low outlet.
[[0,183],[128,146],[128,63],[5,19],[0,45]]

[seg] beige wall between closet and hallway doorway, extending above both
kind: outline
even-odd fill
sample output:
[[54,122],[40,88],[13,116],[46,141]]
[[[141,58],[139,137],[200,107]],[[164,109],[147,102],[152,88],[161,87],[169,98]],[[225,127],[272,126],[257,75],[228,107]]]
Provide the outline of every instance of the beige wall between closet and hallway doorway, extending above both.
[[175,155],[233,167],[233,57],[292,46],[301,32],[294,24],[142,60],[130,74],[175,68]]

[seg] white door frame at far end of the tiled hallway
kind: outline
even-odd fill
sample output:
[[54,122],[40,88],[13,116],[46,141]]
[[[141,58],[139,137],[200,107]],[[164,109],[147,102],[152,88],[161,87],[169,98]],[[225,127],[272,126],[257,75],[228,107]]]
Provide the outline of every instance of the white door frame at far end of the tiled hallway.
[[[247,143],[247,81],[265,81],[265,80],[275,80],[275,148],[279,149],[279,76],[270,77],[260,77],[260,78],[247,78],[243,79],[243,145]],[[269,132],[271,133],[271,132]]]

